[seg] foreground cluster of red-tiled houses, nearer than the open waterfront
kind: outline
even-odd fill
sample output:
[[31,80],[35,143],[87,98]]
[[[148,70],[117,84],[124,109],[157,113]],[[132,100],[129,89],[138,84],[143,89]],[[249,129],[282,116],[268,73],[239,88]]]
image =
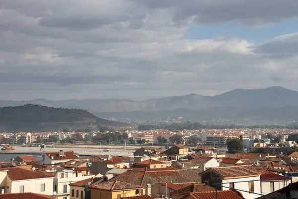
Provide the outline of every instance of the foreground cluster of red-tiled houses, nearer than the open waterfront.
[[72,151],[0,163],[0,199],[266,199],[298,196],[298,152],[197,153],[142,147],[131,157]]

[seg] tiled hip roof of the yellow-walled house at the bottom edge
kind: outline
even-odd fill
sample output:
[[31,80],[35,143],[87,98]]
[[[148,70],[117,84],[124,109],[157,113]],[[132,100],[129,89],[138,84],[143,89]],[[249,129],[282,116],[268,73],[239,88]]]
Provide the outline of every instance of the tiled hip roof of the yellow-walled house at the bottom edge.
[[103,183],[99,183],[99,184],[94,185],[94,186],[91,185],[90,188],[110,190],[110,191],[143,189],[143,187],[140,186],[140,185],[134,185],[134,184],[131,184],[131,183],[121,182],[121,181],[118,181],[118,180],[103,182]]

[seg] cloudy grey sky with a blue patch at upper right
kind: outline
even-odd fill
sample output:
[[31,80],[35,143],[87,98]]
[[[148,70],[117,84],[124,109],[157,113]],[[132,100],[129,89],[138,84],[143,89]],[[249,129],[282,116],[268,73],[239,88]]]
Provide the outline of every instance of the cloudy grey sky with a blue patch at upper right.
[[1,0],[0,99],[298,91],[298,0]]

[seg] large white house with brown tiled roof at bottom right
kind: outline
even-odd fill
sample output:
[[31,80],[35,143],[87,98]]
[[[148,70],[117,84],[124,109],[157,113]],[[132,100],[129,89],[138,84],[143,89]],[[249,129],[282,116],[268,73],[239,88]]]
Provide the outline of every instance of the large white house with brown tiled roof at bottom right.
[[[201,174],[202,182],[209,185],[219,184],[218,190],[229,190],[230,188],[240,188],[245,199],[255,199],[261,194],[260,176],[261,173],[251,166],[214,167]],[[249,192],[249,193],[247,193]]]

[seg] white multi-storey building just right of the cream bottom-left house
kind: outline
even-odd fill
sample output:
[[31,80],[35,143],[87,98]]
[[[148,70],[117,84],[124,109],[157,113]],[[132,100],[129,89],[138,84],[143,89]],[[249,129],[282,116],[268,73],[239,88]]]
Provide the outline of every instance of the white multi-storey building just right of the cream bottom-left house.
[[57,193],[58,199],[70,199],[70,184],[94,177],[94,175],[90,175],[89,168],[63,169],[57,167],[57,172],[54,175],[54,191]]

